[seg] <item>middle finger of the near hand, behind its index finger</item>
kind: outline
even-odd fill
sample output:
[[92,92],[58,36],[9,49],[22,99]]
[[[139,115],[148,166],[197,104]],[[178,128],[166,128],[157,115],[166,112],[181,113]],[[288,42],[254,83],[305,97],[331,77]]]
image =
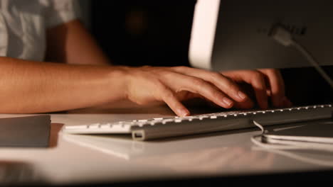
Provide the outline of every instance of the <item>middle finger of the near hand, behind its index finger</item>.
[[240,91],[239,86],[234,81],[224,77],[218,72],[210,72],[204,69],[194,69],[191,67],[174,67],[173,69],[181,74],[198,77],[210,82],[234,101],[243,102],[248,99],[248,96],[244,94],[243,91]]

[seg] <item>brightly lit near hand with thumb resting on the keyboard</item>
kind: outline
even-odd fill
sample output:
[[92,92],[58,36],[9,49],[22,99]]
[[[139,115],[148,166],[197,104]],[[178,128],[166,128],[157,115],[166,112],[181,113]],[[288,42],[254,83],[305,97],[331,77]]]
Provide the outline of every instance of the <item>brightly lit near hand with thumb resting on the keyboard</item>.
[[218,72],[190,67],[128,67],[125,72],[130,101],[141,105],[163,101],[179,116],[190,114],[181,101],[194,97],[206,98],[223,108],[235,103],[253,106],[236,82]]

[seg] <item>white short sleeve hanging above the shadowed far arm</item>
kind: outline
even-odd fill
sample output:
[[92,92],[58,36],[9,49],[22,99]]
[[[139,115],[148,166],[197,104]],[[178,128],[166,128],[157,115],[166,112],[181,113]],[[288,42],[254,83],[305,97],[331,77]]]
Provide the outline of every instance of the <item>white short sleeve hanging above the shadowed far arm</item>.
[[80,16],[77,0],[50,0],[46,7],[46,28],[68,23]]

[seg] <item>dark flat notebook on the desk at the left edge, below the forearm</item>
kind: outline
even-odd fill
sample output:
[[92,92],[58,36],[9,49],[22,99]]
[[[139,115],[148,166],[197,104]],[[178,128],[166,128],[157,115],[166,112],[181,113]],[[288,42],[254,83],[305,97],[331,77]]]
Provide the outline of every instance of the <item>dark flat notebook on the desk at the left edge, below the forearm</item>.
[[0,118],[0,147],[48,147],[50,115]]

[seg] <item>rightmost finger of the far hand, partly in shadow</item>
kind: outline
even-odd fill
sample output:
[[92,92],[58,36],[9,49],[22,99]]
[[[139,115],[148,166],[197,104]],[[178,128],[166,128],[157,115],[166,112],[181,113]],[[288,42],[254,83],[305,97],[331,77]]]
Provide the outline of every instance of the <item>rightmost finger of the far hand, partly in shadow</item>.
[[260,69],[258,71],[265,74],[268,79],[273,106],[282,107],[284,105],[282,100],[285,97],[285,84],[282,75],[276,69]]

